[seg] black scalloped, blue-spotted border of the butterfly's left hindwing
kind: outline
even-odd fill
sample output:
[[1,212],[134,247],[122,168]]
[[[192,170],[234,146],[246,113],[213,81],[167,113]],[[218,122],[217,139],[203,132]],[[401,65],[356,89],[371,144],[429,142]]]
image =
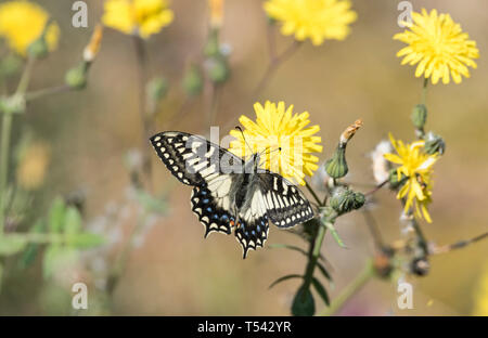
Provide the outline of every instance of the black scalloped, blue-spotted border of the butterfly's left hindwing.
[[213,231],[230,234],[235,218],[223,207],[222,200],[216,198],[207,186],[195,186],[192,191],[192,211],[205,226],[205,237]]

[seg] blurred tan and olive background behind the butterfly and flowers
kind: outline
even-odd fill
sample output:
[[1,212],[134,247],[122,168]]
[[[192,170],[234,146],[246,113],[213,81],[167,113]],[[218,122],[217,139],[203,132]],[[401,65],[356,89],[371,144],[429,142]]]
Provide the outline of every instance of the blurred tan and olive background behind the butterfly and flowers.
[[[0,3],[3,1],[0,1]],[[103,13],[103,2],[88,0],[88,28],[72,26],[74,1],[37,1],[59,23],[60,46],[34,70],[30,89],[57,86],[81,53]],[[269,62],[267,18],[259,0],[227,0],[221,42],[231,50],[231,75],[221,88],[216,126],[224,135],[240,115],[254,118],[254,102],[284,101],[295,112],[308,110],[320,125],[326,159],[345,127],[358,118],[364,126],[348,147],[349,174],[354,182],[374,183],[369,153],[390,131],[396,138],[414,139],[410,122],[419,103],[422,80],[414,68],[401,66],[395,56],[402,43],[391,37],[397,25],[399,1],[352,1],[358,20],[344,41],[328,40],[320,47],[309,41],[282,64],[257,98],[253,89]],[[439,245],[471,238],[487,231],[488,128],[486,112],[488,3],[483,0],[411,1],[420,11],[437,9],[461,23],[480,51],[478,68],[461,84],[431,86],[427,92],[427,130],[441,134],[447,151],[436,164],[432,224],[424,224],[429,240]],[[151,74],[169,82],[166,99],[157,109],[152,131],[182,130],[205,133],[205,94],[187,99],[181,79],[191,62],[201,57],[208,31],[207,1],[174,0],[175,21],[146,41]],[[277,35],[282,51],[291,37]],[[15,79],[9,83],[15,86]],[[138,113],[138,65],[130,37],[105,29],[101,51],[93,63],[88,86],[33,101],[25,115],[15,119],[13,142],[26,129],[50,146],[51,160],[42,190],[31,208],[44,214],[59,195],[82,194],[85,226],[106,230],[111,249],[84,252],[90,269],[65,269],[62,275],[43,278],[42,262],[27,270],[9,270],[3,276],[0,314],[74,314],[70,283],[89,285],[88,314],[124,315],[288,315],[298,281],[268,289],[278,277],[301,273],[305,258],[283,249],[260,249],[242,259],[233,236],[213,234],[203,239],[203,227],[190,209],[191,188],[172,178],[152,154],[152,190],[164,195],[164,211],[145,219],[136,245],[128,252],[124,273],[113,289],[99,278],[112,269],[113,256],[124,247],[137,223],[128,188],[127,161],[137,160],[141,143]],[[150,144],[147,143],[147,147]],[[136,154],[136,155],[134,155]],[[368,187],[358,186],[363,192]],[[129,196],[129,197],[127,197]],[[387,240],[400,237],[400,205],[394,193],[376,194],[372,210]],[[325,237],[323,253],[332,266],[332,299],[362,269],[373,253],[364,219],[354,212],[339,219],[336,229],[348,249]],[[271,226],[269,244],[286,243],[305,248],[296,236]],[[114,253],[115,252],[115,253]],[[435,256],[431,273],[409,278],[414,286],[413,310],[399,310],[396,285],[377,278],[368,283],[338,312],[343,315],[468,315],[479,301],[479,289],[488,284],[488,245],[481,242],[461,250]],[[84,265],[85,266],[85,265]],[[72,266],[73,268],[73,266]],[[79,269],[78,269],[79,268]],[[59,273],[57,273],[59,274]],[[481,282],[485,281],[485,282]],[[103,306],[111,298],[111,306]],[[488,297],[488,296],[485,296]],[[323,303],[318,301],[318,309]],[[84,314],[84,312],[76,314]]]

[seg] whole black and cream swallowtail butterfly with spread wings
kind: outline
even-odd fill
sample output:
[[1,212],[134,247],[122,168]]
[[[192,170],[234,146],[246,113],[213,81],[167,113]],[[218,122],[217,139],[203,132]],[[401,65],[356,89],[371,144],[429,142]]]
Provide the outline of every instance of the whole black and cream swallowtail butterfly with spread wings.
[[270,221],[291,227],[314,216],[295,185],[259,168],[259,154],[244,161],[202,136],[180,131],[160,132],[150,140],[166,168],[193,186],[192,211],[204,225],[205,237],[233,231],[243,258],[265,245]]

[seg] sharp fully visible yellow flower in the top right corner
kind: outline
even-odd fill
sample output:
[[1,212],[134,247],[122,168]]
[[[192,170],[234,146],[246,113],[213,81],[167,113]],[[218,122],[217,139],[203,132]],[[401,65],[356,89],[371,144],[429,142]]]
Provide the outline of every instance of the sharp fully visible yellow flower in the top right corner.
[[409,44],[397,53],[398,57],[404,56],[401,64],[419,63],[415,77],[424,75],[434,84],[440,78],[442,83],[449,83],[449,74],[455,83],[461,82],[461,76],[468,78],[467,67],[476,68],[473,58],[479,57],[476,41],[468,40],[468,35],[449,14],[422,9],[422,14],[413,12],[412,18],[412,24],[404,23],[410,30],[394,36],[395,40]]

